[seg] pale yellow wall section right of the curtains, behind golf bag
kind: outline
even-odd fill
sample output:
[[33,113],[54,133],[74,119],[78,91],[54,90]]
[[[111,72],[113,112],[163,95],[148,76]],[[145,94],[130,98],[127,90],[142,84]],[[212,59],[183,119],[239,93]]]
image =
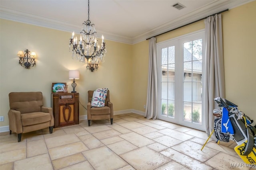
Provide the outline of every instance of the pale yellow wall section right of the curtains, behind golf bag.
[[256,121],[256,1],[222,17],[226,98]]

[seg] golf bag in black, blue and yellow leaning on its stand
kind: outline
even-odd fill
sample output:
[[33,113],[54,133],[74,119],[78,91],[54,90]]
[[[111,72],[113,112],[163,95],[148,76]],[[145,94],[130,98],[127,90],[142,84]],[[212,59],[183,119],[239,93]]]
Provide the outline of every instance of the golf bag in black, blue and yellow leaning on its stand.
[[[214,132],[218,141],[229,142],[234,140],[237,146],[236,153],[248,164],[256,163],[256,128],[252,126],[253,120],[238,110],[232,102],[215,98],[214,102],[220,109],[214,109]],[[216,123],[215,123],[216,122]],[[217,142],[218,142],[217,141]]]

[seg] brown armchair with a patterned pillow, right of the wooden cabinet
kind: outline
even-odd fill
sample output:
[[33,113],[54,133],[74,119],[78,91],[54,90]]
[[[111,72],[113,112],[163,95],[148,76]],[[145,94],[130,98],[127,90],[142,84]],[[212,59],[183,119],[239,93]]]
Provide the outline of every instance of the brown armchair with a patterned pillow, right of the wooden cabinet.
[[109,119],[111,125],[113,124],[113,104],[110,102],[109,90],[107,92],[105,106],[104,107],[91,107],[92,90],[88,91],[88,104],[87,104],[87,119],[88,125],[90,126],[91,120]]

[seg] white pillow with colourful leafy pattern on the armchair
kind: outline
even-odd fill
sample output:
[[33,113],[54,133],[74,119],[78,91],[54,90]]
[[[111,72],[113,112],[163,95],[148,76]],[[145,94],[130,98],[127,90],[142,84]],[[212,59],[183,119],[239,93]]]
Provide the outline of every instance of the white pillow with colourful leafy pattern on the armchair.
[[92,95],[92,107],[104,107],[108,88],[98,88],[94,90]]

